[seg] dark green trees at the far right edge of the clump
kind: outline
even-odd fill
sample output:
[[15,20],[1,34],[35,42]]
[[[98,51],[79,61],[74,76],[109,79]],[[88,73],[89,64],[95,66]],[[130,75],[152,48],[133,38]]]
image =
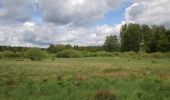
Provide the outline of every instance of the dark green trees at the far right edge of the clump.
[[142,25],[142,40],[146,52],[166,52],[169,50],[168,32],[164,26]]

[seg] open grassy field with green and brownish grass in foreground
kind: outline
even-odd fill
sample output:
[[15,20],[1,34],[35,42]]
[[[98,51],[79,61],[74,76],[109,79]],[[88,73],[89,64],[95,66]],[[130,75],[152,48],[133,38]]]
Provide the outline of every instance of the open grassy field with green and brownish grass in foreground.
[[0,60],[1,100],[95,100],[100,96],[170,100],[170,58]]

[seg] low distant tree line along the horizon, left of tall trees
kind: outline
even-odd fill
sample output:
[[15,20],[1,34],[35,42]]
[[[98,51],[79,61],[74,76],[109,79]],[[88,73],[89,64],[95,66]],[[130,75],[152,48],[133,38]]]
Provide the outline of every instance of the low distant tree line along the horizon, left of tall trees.
[[[12,51],[12,52],[26,52],[32,47],[16,47],[16,46],[0,46],[0,52]],[[88,51],[88,52],[97,52],[104,51],[103,46],[78,46],[78,45],[63,45],[63,44],[50,44],[48,48],[39,48],[43,51],[48,51],[49,53],[58,53],[63,50],[77,50],[77,51]]]

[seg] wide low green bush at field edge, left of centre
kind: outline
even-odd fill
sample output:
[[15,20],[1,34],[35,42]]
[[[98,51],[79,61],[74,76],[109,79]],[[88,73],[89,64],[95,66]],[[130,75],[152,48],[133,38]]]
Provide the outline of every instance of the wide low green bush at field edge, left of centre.
[[56,54],[59,58],[80,58],[81,54],[76,50],[64,50]]

